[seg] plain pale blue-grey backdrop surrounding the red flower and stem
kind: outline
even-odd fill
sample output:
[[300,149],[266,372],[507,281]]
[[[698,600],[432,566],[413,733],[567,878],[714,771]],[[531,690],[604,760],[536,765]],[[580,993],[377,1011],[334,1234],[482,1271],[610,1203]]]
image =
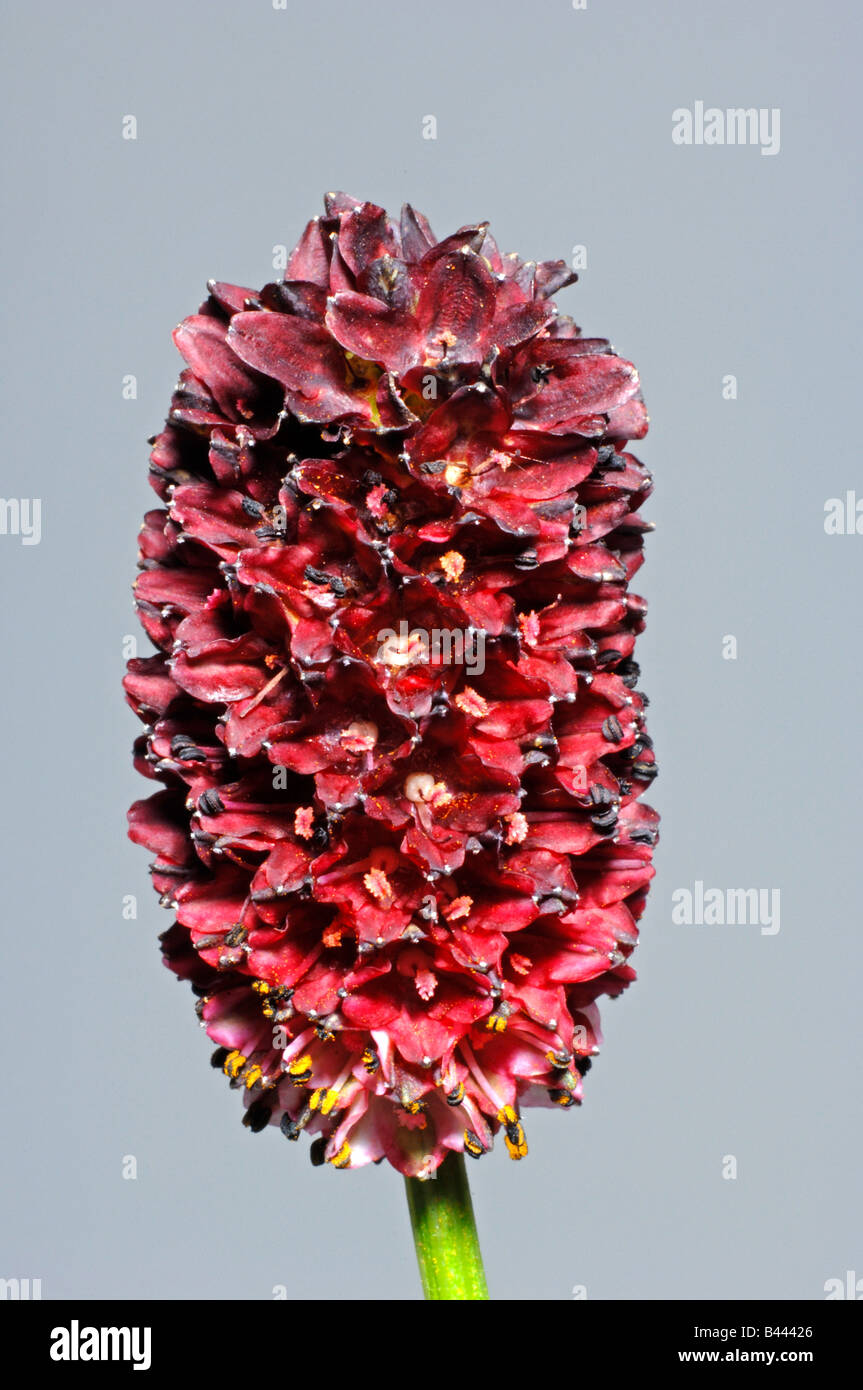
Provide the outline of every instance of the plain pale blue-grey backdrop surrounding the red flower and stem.
[[[329,188],[410,199],[441,236],[489,218],[527,257],[586,245],[561,307],[635,360],[653,420],[636,588],[663,838],[639,980],[605,1006],[584,1108],[529,1113],[525,1162],[471,1166],[492,1294],[821,1298],[863,1275],[863,537],[823,525],[827,498],[863,496],[859,7],[4,11],[1,491],[42,498],[43,538],[0,537],[0,1275],[49,1298],[418,1297],[397,1175],[314,1170],[242,1127],[125,841],[147,787],[122,638],[170,331],[207,277],[270,279]],[[695,100],[780,107],[781,152],[674,146]],[[780,934],[674,926],[696,878],[778,887]]]

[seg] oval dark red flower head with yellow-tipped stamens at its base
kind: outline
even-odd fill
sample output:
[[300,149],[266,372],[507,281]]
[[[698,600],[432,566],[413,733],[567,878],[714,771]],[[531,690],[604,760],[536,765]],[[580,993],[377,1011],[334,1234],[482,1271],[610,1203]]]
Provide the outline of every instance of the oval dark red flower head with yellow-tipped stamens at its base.
[[520,1158],[634,977],[648,417],[574,278],[339,193],[175,332],[131,835],[245,1123],[336,1168]]

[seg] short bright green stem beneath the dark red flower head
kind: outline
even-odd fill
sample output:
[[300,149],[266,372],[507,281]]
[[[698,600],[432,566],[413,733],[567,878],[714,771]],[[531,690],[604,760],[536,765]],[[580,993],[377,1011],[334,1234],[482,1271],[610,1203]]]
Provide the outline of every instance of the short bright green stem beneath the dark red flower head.
[[406,1177],[404,1187],[425,1297],[488,1298],[461,1154],[447,1154],[435,1177]]

